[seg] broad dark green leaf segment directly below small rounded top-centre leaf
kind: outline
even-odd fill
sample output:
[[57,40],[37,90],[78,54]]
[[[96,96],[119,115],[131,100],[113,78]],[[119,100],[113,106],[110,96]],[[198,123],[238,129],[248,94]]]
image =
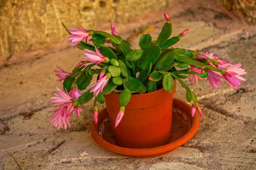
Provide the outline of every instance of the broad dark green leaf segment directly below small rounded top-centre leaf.
[[155,62],[159,59],[160,55],[161,52],[158,46],[150,46],[145,54],[145,57],[143,57],[143,60],[141,62],[141,69],[148,69],[150,63],[152,63],[153,66]]

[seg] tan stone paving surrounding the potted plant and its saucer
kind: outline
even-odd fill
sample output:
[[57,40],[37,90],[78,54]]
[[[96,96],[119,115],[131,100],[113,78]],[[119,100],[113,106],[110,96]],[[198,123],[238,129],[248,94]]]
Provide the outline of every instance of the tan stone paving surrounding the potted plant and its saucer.
[[[67,131],[51,127],[50,97],[56,86],[61,87],[53,71],[56,66],[70,71],[83,57],[81,50],[67,46],[36,57],[28,54],[0,68],[1,169],[256,169],[256,27],[212,1],[179,1],[166,11],[172,16],[173,35],[189,28],[176,46],[214,52],[221,59],[241,62],[248,72],[239,90],[224,85],[212,91],[203,80],[197,86],[188,80],[203,111],[198,132],[188,143],[148,159],[108,152],[90,136],[92,103],[84,104],[80,118],[71,118]],[[116,29],[129,38],[134,31],[154,27],[151,33],[156,37],[163,23],[163,12],[151,13]],[[108,27],[102,24],[99,29]],[[134,47],[138,39],[131,40]],[[180,85],[177,89],[175,97],[184,99],[184,90]],[[82,150],[88,155],[79,155]]]

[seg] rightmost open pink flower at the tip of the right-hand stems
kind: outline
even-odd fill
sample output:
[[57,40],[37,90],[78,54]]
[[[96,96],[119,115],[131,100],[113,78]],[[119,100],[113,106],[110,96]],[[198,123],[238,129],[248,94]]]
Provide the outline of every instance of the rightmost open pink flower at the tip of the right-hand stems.
[[224,66],[226,66],[224,78],[227,80],[228,85],[230,85],[230,87],[233,89],[238,89],[241,86],[241,81],[245,81],[245,79],[241,76],[247,74],[244,69],[241,69],[242,64],[224,64]]

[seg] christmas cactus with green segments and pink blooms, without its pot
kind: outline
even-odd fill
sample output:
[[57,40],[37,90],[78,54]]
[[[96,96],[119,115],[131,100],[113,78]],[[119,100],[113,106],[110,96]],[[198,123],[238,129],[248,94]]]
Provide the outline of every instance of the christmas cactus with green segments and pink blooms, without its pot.
[[[140,49],[133,50],[128,41],[125,41],[111,24],[111,34],[103,31],[86,30],[81,26],[77,28],[63,27],[67,30],[70,45],[84,51],[81,59],[71,73],[56,70],[59,81],[63,80],[63,89],[58,87],[58,94],[53,99],[54,106],[59,106],[52,111],[51,124],[57,129],[70,127],[69,116],[76,111],[79,117],[81,104],[87,103],[94,97],[93,119],[97,124],[98,108],[96,103],[105,103],[104,94],[111,92],[120,94],[120,111],[116,117],[115,127],[125,115],[125,106],[129,103],[132,94],[144,94],[163,88],[172,92],[174,80],[186,89],[186,99],[193,101],[191,108],[192,117],[195,111],[200,115],[201,107],[195,93],[189,89],[182,80],[187,78],[197,83],[198,78],[207,78],[212,90],[222,85],[221,80],[227,81],[230,87],[237,89],[241,75],[246,74],[241,69],[241,64],[231,64],[218,59],[212,53],[198,53],[184,48],[173,48],[185,36],[189,29],[177,36],[170,38],[172,24],[170,17],[164,13],[165,24],[156,40],[150,34],[143,34],[140,38]],[[92,43],[87,43],[90,37]],[[85,40],[85,42],[84,42]],[[91,84],[93,75],[97,75],[97,82]],[[90,85],[91,84],[91,85]],[[80,92],[85,89],[87,91]],[[80,90],[80,91],[79,91]]]

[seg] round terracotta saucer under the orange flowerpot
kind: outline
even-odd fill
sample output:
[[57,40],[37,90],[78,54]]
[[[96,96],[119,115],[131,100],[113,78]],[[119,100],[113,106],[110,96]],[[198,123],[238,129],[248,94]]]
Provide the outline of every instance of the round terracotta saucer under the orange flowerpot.
[[108,113],[106,108],[100,111],[98,115],[98,124],[92,122],[91,134],[92,138],[106,150],[119,153],[129,157],[156,157],[164,153],[168,153],[175,148],[183,145],[191,139],[198,127],[199,117],[191,117],[191,106],[179,99],[173,99],[173,120],[172,120],[171,138],[166,145],[157,146],[154,148],[124,148],[116,145],[113,131],[110,127]]

